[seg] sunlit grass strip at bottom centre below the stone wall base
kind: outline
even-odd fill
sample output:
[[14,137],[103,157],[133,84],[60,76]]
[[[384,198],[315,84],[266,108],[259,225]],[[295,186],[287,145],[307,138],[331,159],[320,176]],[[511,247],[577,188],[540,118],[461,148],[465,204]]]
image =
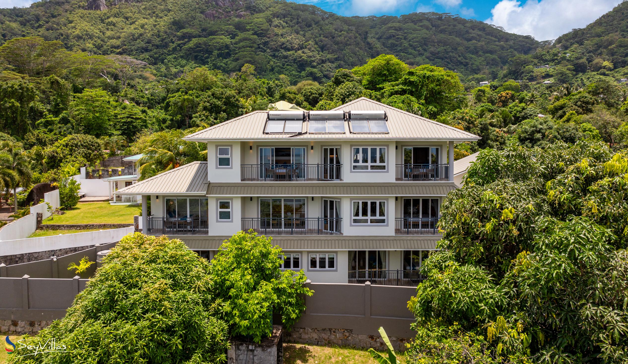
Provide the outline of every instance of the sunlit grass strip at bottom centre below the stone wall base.
[[[386,356],[386,355],[384,355]],[[406,357],[397,353],[398,363],[405,364]],[[344,348],[339,346],[313,346],[302,344],[283,345],[284,364],[376,364],[371,355],[363,349]]]

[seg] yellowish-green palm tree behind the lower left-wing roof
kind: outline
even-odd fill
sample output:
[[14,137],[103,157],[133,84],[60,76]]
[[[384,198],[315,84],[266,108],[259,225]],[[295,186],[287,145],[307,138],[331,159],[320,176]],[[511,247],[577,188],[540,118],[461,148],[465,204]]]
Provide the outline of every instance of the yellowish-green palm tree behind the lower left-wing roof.
[[170,171],[181,164],[207,160],[204,144],[184,141],[186,131],[172,129],[154,133],[148,139],[148,147],[142,151],[139,159],[140,179]]

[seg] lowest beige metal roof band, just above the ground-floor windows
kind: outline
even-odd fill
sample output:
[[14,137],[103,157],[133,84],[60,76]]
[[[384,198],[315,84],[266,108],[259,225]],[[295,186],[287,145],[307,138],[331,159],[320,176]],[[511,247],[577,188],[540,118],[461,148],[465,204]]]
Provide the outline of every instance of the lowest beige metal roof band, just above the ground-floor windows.
[[[170,238],[183,240],[190,249],[218,249],[230,237],[177,236]],[[424,236],[384,236],[384,237],[345,237],[342,235],[276,236],[273,243],[284,250],[434,250],[440,235]]]

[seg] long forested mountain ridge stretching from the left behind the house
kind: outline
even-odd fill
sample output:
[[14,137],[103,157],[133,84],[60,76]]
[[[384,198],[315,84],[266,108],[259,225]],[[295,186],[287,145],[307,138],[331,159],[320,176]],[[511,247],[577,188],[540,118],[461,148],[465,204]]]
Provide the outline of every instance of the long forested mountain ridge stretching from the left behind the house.
[[[91,9],[91,10],[87,10]],[[194,65],[326,80],[381,53],[496,77],[539,42],[452,14],[343,17],[276,0],[50,0],[0,9],[0,41],[60,40],[68,50],[133,56],[176,75]]]

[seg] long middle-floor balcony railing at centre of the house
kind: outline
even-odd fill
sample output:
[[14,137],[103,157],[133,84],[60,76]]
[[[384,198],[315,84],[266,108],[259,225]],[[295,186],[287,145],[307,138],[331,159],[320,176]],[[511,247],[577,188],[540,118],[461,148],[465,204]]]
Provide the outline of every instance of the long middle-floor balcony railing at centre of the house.
[[242,218],[242,230],[263,235],[340,235],[342,218]]

